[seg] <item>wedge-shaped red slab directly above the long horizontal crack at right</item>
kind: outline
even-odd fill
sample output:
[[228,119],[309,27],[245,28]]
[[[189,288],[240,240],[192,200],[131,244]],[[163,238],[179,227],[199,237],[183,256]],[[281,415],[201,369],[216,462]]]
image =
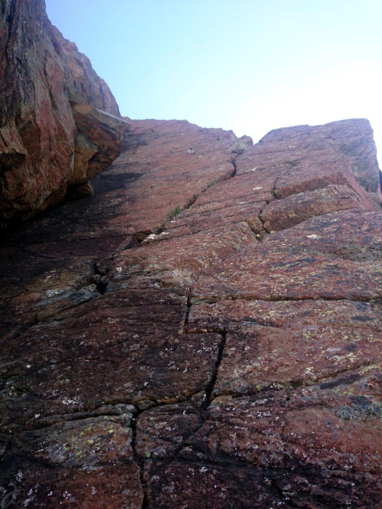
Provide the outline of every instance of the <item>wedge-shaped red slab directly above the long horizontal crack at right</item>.
[[333,212],[251,244],[193,290],[195,301],[382,296],[380,213]]

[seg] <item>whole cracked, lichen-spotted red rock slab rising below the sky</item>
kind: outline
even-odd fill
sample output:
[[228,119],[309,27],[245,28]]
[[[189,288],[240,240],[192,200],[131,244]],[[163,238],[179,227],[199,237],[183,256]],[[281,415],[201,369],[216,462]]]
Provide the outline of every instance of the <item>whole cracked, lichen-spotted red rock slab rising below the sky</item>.
[[368,122],[132,121],[92,185],[1,248],[2,507],[382,507]]

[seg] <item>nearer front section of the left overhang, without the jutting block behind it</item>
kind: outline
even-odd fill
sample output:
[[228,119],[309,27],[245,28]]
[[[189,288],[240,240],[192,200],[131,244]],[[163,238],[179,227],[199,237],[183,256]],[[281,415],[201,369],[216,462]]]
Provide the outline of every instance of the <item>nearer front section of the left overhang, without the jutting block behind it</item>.
[[7,222],[63,197],[73,172],[75,125],[43,2],[6,1],[1,15],[1,213]]

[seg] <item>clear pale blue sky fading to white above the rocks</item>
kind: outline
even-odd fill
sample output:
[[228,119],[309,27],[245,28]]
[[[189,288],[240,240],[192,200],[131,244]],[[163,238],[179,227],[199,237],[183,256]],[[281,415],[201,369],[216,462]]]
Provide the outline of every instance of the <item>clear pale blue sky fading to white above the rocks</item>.
[[254,141],[368,118],[382,159],[381,0],[46,0],[133,119]]

